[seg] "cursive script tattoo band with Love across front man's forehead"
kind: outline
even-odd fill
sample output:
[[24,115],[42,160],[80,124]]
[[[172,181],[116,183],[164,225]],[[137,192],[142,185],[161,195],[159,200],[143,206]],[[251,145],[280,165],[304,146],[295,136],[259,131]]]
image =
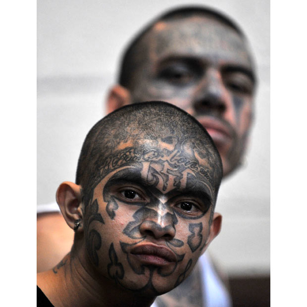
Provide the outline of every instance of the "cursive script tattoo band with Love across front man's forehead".
[[[121,150],[115,150],[114,153],[106,156],[101,153],[94,163],[95,171],[90,178],[89,188],[93,190],[108,173],[119,167],[146,161],[164,163],[163,160],[165,159],[167,159],[170,167],[177,172],[177,184],[181,179],[180,174],[182,171],[190,169],[198,180],[208,182],[212,192],[215,192],[216,182],[221,176],[221,169],[217,165],[215,153],[209,149],[201,149],[198,145],[190,143],[188,140],[177,142],[172,150],[156,146],[129,146]],[[168,172],[173,171],[169,169]],[[165,174],[164,178],[166,179],[169,174]],[[88,205],[88,203],[85,202],[85,205]]]

